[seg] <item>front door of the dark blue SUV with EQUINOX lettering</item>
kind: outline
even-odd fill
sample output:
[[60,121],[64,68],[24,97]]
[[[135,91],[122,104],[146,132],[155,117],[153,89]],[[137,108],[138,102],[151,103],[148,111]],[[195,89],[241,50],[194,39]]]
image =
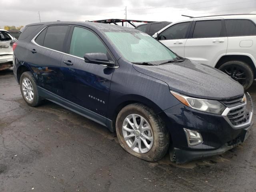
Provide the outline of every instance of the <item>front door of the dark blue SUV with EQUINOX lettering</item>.
[[64,98],[96,112],[106,115],[110,82],[114,69],[99,64],[86,63],[85,53],[101,52],[108,55],[106,46],[94,32],[75,26],[70,36],[70,46],[61,62]]

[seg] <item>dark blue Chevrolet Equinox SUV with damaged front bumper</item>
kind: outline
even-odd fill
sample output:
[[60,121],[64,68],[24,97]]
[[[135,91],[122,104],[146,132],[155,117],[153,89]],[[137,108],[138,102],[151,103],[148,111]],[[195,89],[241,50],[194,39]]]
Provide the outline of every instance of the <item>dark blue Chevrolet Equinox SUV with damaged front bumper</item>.
[[173,53],[148,34],[91,22],[25,27],[14,49],[24,100],[55,102],[116,131],[130,154],[184,163],[244,142],[250,96],[217,69]]

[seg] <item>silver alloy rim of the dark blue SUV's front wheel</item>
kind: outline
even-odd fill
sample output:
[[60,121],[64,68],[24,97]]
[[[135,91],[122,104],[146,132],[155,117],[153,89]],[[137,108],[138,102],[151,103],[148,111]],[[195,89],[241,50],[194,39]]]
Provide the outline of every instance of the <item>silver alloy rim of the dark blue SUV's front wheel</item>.
[[150,124],[138,114],[128,115],[122,125],[122,133],[126,144],[137,153],[150,151],[154,136]]

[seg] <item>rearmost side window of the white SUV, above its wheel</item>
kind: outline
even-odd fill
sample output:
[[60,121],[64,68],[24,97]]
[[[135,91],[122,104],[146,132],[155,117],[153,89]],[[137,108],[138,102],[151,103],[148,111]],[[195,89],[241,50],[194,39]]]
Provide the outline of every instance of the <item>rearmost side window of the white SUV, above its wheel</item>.
[[225,20],[228,36],[256,35],[256,26],[250,20]]

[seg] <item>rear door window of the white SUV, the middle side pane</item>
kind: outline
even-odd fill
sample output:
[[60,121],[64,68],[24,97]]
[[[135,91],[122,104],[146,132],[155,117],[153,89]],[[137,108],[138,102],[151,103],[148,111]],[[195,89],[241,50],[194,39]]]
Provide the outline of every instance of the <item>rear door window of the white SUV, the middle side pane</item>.
[[207,38],[222,36],[221,20],[197,21],[193,38]]

